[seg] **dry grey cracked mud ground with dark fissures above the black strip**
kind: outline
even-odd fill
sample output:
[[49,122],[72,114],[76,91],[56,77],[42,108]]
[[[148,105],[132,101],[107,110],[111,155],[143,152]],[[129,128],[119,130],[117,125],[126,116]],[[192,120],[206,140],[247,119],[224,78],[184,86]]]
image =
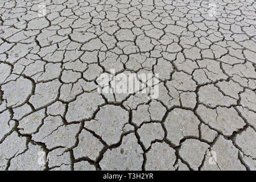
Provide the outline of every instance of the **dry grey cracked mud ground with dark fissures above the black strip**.
[[0,0],[0,170],[255,170],[256,4],[214,2]]

